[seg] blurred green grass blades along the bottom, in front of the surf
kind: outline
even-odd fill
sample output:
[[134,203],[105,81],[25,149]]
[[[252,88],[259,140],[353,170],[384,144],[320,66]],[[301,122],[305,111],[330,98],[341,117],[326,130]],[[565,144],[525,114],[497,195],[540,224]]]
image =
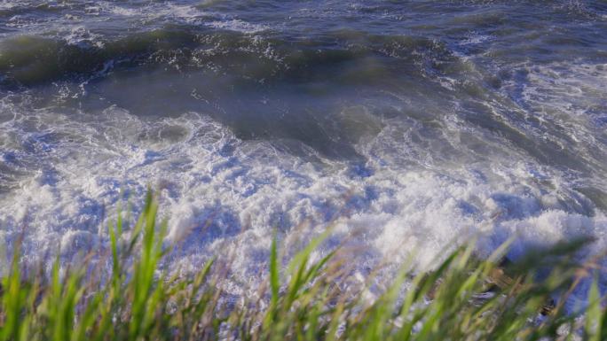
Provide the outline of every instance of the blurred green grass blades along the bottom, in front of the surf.
[[[330,229],[282,267],[274,237],[266,280],[256,298],[224,298],[230,261],[209,260],[192,275],[174,275],[162,260],[166,224],[148,194],[143,213],[128,227],[119,213],[109,227],[111,268],[99,263],[59,267],[51,273],[20,265],[19,242],[0,292],[0,341],[102,340],[601,340],[607,311],[598,290],[603,255],[580,264],[573,255],[591,241],[580,239],[508,262],[503,244],[489,258],[465,245],[430,273],[404,264],[373,298],[367,284],[352,282],[347,255],[337,246],[311,257]],[[121,238],[130,231],[130,236]],[[594,281],[587,306],[564,303],[581,281]],[[372,276],[371,276],[372,277]],[[355,289],[352,289],[355,288]]]

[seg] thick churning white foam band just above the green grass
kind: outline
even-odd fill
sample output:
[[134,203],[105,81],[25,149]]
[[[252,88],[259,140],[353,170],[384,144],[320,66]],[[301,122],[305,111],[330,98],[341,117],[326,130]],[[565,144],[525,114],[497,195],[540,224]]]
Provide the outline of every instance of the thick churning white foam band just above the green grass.
[[[0,131],[20,136],[17,159],[39,170],[0,198],[0,225],[7,240],[26,227],[32,261],[59,246],[65,260],[103,247],[121,190],[130,191],[137,211],[148,183],[162,187],[169,239],[183,239],[176,265],[194,269],[210,255],[233,251],[234,294],[246,294],[237,283],[261,280],[272,229],[280,230],[283,243],[297,245],[332,217],[332,240],[358,234],[350,243],[365,250],[358,260],[362,275],[412,252],[419,267],[429,267],[445,248],[474,236],[485,253],[520,236],[514,258],[533,244],[578,235],[607,244],[603,213],[571,213],[556,199],[568,198],[570,190],[559,172],[508,159],[447,162],[448,168],[439,167],[444,160],[428,159],[407,167],[424,157],[409,150],[413,144],[393,140],[390,129],[406,131],[393,124],[359,146],[373,170],[360,175],[338,161],[312,164],[269,142],[241,141],[198,113],[147,121],[111,106],[94,115],[39,111],[7,122]],[[29,147],[22,144],[27,141]],[[546,178],[562,186],[537,185]],[[311,230],[293,232],[303,221],[311,221]]]

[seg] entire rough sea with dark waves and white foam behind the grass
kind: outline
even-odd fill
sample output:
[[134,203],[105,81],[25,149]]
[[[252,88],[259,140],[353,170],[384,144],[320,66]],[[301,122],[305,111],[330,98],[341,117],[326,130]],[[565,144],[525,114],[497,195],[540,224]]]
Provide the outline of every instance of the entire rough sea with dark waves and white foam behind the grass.
[[172,264],[232,252],[235,295],[274,229],[333,227],[318,255],[355,244],[363,278],[475,237],[594,252],[606,175],[602,0],[0,4],[0,243],[26,261],[103,249],[148,186]]

